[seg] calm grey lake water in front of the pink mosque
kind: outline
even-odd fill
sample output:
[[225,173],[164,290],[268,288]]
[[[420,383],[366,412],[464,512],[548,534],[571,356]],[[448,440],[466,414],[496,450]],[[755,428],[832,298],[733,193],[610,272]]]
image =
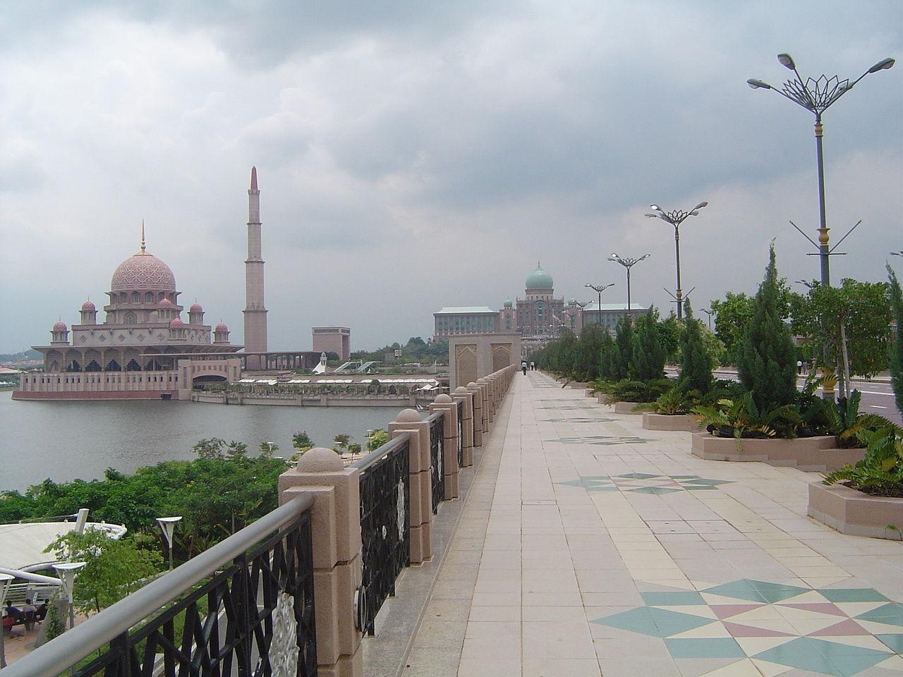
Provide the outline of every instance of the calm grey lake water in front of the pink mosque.
[[240,441],[256,453],[260,442],[292,454],[292,435],[307,431],[317,446],[338,434],[364,443],[368,430],[388,427],[391,407],[223,405],[161,400],[22,402],[0,392],[0,489],[131,472],[162,460],[194,459],[202,438]]

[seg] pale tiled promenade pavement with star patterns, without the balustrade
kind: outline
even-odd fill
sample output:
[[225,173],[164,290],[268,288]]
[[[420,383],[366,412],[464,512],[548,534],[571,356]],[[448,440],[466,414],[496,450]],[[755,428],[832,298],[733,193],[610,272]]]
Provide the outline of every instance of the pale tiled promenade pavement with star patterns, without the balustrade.
[[900,675],[903,546],[808,519],[818,479],[518,374],[405,675]]

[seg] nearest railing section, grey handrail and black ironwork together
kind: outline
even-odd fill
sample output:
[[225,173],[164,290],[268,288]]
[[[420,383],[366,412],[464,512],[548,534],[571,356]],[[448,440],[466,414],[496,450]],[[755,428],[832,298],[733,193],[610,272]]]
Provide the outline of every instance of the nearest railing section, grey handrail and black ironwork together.
[[4,677],[314,677],[312,505],[306,495],[276,508],[9,665]]

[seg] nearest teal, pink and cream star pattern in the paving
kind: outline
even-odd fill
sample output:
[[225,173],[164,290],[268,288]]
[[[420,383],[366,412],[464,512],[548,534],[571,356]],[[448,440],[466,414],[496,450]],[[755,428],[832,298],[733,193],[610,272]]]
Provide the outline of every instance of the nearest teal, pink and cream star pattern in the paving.
[[[646,606],[592,623],[660,637],[675,660],[736,657],[770,665],[771,674],[796,668],[853,677],[903,648],[903,633],[894,630],[903,626],[903,605],[873,589],[808,589],[743,579],[696,592],[641,594]],[[873,634],[869,626],[887,632]]]

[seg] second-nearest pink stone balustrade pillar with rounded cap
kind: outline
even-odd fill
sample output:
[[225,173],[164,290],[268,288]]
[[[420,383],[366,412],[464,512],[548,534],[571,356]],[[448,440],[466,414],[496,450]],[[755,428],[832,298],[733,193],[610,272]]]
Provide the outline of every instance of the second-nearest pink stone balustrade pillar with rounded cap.
[[433,483],[430,481],[430,424],[414,409],[398,413],[389,423],[389,438],[409,436],[411,478],[411,563],[433,557]]

